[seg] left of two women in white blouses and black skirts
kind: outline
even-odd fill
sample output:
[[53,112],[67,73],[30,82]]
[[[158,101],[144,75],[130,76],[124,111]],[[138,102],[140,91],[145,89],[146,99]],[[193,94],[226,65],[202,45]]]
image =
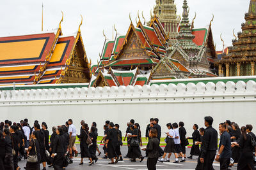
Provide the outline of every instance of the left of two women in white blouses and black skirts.
[[[168,128],[168,132],[166,133],[166,146],[164,148],[164,155],[163,158],[159,159],[159,162],[170,162],[170,157],[172,155],[172,153],[176,153],[176,148],[175,148],[175,143],[173,141],[174,136],[174,132],[173,132],[173,127],[172,124],[166,124],[166,127]],[[167,159],[165,159],[166,154],[168,153],[168,157]]]

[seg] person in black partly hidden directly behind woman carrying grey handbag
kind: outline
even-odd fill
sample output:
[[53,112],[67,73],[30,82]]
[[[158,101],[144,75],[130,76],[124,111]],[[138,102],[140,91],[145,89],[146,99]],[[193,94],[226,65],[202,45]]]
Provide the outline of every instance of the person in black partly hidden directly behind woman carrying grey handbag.
[[44,135],[44,131],[40,130],[40,125],[38,123],[34,124],[34,129],[36,132],[36,139],[39,143],[39,148],[40,148],[40,155],[41,155],[41,161],[40,163],[43,164],[43,170],[45,170],[46,168],[46,154],[45,154],[45,135]]

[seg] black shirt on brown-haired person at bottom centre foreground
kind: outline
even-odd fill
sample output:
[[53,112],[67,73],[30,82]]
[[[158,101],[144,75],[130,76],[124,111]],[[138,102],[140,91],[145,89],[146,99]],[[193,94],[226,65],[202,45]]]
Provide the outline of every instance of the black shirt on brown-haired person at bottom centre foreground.
[[157,138],[150,138],[148,141],[148,145],[146,148],[146,152],[148,153],[148,158],[158,158],[159,157],[159,148],[160,141]]

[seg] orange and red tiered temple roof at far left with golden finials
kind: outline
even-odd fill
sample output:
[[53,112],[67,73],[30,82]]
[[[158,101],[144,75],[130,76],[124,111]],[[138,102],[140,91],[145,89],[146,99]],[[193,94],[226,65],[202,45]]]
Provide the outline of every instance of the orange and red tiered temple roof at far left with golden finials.
[[69,73],[68,67],[72,67],[70,60],[77,57],[74,57],[75,46],[84,54],[84,66],[81,67],[88,79],[83,81],[82,78],[80,82],[90,81],[90,64],[80,26],[73,36],[62,36],[61,22],[52,32],[0,38],[0,85],[63,83],[63,77]]

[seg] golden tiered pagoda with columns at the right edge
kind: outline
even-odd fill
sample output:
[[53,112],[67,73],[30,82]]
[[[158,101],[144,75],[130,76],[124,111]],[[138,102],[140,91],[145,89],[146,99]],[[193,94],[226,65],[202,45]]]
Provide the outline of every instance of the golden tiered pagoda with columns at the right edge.
[[256,0],[250,1],[249,11],[245,13],[242,31],[237,33],[238,39],[232,39],[233,46],[229,53],[216,62],[219,75],[254,76],[256,61]]

